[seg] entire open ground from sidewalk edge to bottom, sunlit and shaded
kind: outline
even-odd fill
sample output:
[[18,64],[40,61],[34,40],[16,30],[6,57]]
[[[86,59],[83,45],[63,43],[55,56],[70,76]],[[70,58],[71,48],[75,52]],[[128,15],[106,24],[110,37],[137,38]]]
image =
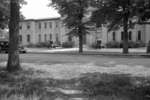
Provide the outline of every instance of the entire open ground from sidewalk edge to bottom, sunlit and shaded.
[[21,55],[22,70],[5,70],[0,100],[149,100],[149,59],[57,54]]

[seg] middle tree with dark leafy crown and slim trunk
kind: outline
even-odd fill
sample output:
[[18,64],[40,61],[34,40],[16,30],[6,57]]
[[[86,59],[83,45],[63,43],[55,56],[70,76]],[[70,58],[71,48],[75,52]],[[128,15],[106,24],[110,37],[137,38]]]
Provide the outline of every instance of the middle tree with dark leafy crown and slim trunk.
[[88,33],[87,14],[90,0],[52,0],[53,5],[63,17],[63,21],[70,29],[68,35],[79,38],[79,53],[83,52],[83,37]]

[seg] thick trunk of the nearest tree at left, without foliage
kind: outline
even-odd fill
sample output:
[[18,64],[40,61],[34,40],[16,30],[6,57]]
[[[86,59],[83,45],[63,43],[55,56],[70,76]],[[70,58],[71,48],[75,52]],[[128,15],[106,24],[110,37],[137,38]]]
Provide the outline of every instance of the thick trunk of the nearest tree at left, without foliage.
[[19,61],[19,0],[10,0],[10,22],[9,22],[9,53],[7,70],[17,71],[20,67]]

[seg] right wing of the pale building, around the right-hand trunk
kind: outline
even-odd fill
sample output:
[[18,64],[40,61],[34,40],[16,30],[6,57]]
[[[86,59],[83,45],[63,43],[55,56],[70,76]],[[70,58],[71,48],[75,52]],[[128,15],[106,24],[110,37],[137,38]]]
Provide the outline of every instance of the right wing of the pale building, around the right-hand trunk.
[[[116,31],[107,32],[105,30],[105,43],[117,41],[122,42],[123,40],[123,29],[120,28]],[[128,30],[128,40],[133,42],[143,42],[147,44],[150,40],[150,24],[136,24],[133,29]],[[104,42],[104,41],[103,41]]]

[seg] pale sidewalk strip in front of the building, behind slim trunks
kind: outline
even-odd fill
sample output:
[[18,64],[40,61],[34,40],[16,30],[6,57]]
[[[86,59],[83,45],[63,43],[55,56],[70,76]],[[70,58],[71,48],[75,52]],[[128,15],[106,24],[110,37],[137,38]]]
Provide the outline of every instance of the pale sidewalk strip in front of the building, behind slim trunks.
[[129,54],[122,54],[122,49],[116,48],[102,48],[102,49],[83,49],[83,53],[78,53],[78,48],[27,48],[28,53],[45,53],[45,54],[71,54],[71,55],[106,55],[106,56],[144,56],[150,57],[146,53],[146,48],[132,48],[129,49]]

